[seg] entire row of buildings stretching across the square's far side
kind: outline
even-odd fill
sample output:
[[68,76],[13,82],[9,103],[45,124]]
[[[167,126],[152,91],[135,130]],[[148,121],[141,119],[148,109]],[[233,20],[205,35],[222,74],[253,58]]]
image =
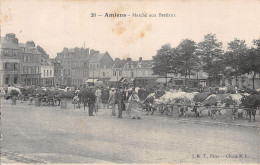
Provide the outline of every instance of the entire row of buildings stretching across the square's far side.
[[[80,87],[84,84],[134,84],[153,87],[166,82],[170,85],[185,84],[185,78],[180,74],[168,75],[167,79],[153,75],[152,60],[143,60],[142,57],[138,60],[113,59],[108,52],[75,47],[64,48],[54,59],[50,59],[33,41],[19,43],[13,33],[1,37],[0,62],[1,85]],[[244,79],[245,84],[250,84],[250,76]],[[206,86],[208,76],[198,71],[186,81],[190,87]],[[220,86],[227,84],[234,82],[225,80]]]

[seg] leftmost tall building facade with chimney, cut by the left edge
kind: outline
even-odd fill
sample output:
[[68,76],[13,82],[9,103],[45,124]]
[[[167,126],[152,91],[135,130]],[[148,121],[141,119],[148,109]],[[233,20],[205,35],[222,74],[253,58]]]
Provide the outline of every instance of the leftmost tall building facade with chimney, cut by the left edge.
[[20,85],[20,48],[15,34],[10,33],[1,37],[0,61],[0,85]]

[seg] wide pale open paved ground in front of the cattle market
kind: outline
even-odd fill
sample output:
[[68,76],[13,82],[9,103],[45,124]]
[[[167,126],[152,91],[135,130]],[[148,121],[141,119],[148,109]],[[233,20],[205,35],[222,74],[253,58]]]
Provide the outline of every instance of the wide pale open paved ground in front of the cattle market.
[[[259,129],[2,102],[2,163],[259,163]],[[189,119],[189,118],[187,118]],[[241,155],[239,155],[241,154]]]

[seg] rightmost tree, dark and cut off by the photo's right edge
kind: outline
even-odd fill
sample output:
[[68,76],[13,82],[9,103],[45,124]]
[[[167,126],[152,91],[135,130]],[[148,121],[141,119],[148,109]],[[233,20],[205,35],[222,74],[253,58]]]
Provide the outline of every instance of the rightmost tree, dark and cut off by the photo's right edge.
[[253,89],[255,89],[255,77],[260,73],[260,39],[253,41],[253,47],[244,56],[242,73],[252,73]]

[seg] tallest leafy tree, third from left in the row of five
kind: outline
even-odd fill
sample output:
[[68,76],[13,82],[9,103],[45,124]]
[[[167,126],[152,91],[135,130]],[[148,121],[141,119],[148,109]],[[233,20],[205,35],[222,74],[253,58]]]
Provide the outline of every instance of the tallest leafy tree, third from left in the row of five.
[[216,82],[224,72],[222,42],[218,42],[215,34],[207,34],[200,42],[196,54],[202,60],[202,69],[211,81]]

